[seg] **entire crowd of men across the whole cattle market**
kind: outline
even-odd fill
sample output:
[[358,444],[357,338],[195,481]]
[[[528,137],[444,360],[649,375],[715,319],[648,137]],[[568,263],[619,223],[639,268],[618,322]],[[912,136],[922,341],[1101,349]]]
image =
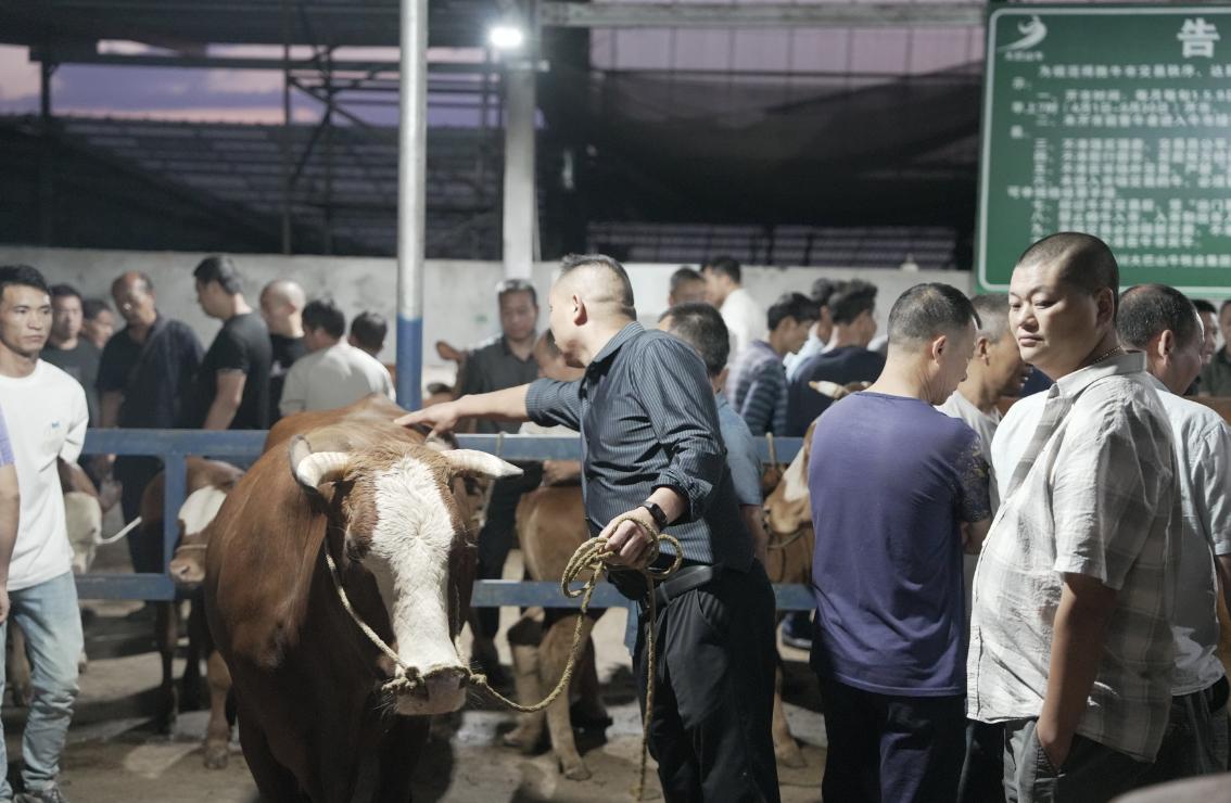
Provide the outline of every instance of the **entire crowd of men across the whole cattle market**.
[[[36,658],[18,799],[64,799],[82,637],[55,464],[78,459],[86,427],[263,429],[393,396],[379,316],[343,339],[345,315],[292,280],[266,285],[257,311],[229,257],[193,277],[222,321],[208,349],[159,314],[144,274],[114,280],[113,332],[105,303],[0,267],[0,621],[21,623]],[[862,280],[762,310],[719,258],[677,271],[667,303],[648,330],[617,261],[567,257],[540,334],[533,285],[501,283],[501,333],[465,355],[452,392],[430,389],[448,401],[403,419],[581,432],[580,465],[492,489],[480,577],[500,576],[526,491],[581,482],[609,578],[640,605],[629,644],[643,681],[656,635],[650,746],[667,799],[779,797],[753,438],[809,427],[816,612],[795,625],[825,705],[826,799],[1104,801],[1226,770],[1231,430],[1183,395],[1231,396],[1231,342],[1216,346],[1231,301],[1121,294],[1102,241],[1060,234],[1022,256],[1007,295],[911,288],[879,348],[876,288]],[[1028,376],[1045,392],[1002,417]],[[837,402],[817,391],[860,384]],[[126,519],[159,469],[90,467],[119,480]],[[639,569],[666,529],[683,563],[650,589]],[[160,548],[130,540],[134,567],[159,571]],[[489,675],[495,625],[474,622]],[[0,753],[0,802],[5,766]]]

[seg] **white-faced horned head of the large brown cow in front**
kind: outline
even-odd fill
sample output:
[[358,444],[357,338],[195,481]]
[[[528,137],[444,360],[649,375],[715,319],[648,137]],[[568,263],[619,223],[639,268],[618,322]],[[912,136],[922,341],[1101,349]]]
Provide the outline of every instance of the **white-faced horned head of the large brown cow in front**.
[[405,441],[314,453],[303,437],[292,440],[291,465],[303,488],[332,499],[346,556],[391,578],[385,601],[398,657],[426,681],[399,692],[396,711],[420,716],[460,708],[468,673],[455,638],[475,557],[452,482],[511,477],[521,469],[481,451],[436,451]]

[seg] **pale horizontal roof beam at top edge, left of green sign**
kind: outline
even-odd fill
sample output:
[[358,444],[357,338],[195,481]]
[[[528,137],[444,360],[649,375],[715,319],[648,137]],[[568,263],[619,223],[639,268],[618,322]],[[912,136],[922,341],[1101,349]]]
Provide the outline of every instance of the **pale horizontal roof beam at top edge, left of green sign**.
[[539,21],[564,28],[974,27],[982,2],[543,2]]

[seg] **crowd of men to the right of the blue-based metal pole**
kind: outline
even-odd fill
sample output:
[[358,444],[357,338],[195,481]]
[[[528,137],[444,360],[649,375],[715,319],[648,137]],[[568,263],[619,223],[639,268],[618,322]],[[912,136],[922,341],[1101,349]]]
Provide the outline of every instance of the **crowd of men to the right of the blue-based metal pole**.
[[[1110,250],[1060,234],[1022,256],[1008,294],[911,288],[878,348],[874,285],[822,279],[762,312],[740,266],[715,259],[675,273],[659,320],[689,357],[636,322],[618,262],[569,257],[550,334],[583,373],[531,381],[529,285],[501,288],[501,318],[517,294],[516,337],[485,346],[505,370],[468,363],[455,401],[405,421],[581,432],[591,532],[640,605],[643,681],[648,628],[659,642],[650,746],[667,799],[778,799],[752,437],[814,422],[816,614],[800,641],[826,801],[1109,801],[1227,769],[1231,429],[1183,396],[1231,396],[1231,301],[1121,295]],[[835,402],[824,384],[867,389]],[[481,552],[503,528],[489,520]],[[684,562],[650,622],[625,569],[665,529]],[[490,553],[494,577],[507,540]]]

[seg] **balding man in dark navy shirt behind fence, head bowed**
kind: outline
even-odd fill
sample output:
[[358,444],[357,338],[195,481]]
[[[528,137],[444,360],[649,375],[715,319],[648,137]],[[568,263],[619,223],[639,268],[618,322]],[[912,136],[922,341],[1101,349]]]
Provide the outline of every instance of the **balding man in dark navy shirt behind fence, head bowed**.
[[[158,311],[154,283],[128,272],[111,285],[111,298],[124,318],[98,363],[102,427],[170,429],[177,424],[192,378],[201,364],[201,341],[181,321]],[[121,456],[116,478],[123,483],[124,521],[137,518],[145,485],[161,470],[158,457]],[[138,572],[162,571],[162,539],[128,536],[128,552]]]

